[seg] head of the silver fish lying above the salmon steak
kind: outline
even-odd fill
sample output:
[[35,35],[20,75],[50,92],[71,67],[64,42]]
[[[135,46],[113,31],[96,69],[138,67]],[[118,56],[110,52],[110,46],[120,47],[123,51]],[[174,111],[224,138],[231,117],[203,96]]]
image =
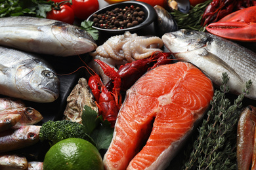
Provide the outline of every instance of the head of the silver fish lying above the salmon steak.
[[190,52],[207,46],[209,35],[202,31],[181,29],[162,36],[163,44],[173,53]]

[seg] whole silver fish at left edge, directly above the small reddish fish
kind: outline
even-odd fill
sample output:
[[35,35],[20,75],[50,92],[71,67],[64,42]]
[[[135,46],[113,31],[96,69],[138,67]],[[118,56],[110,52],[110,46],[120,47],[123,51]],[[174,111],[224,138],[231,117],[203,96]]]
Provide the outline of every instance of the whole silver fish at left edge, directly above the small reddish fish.
[[0,46],[0,94],[39,103],[60,93],[55,71],[35,54]]

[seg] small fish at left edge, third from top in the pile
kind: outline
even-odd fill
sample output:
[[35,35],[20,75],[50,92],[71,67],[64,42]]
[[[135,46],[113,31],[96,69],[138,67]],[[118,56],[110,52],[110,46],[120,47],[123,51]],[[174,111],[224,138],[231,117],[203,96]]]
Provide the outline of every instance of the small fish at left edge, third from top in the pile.
[[20,114],[2,114],[0,115],[0,131],[5,131],[16,125],[22,116]]

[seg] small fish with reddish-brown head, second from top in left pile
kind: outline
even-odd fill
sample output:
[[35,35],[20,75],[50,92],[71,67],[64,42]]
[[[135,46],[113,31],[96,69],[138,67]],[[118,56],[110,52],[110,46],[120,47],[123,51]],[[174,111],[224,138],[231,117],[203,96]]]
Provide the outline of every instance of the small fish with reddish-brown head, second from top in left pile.
[[43,119],[43,116],[32,107],[21,107],[16,109],[0,110],[0,116],[6,114],[19,114],[21,116],[18,121],[19,125],[33,125],[37,124]]

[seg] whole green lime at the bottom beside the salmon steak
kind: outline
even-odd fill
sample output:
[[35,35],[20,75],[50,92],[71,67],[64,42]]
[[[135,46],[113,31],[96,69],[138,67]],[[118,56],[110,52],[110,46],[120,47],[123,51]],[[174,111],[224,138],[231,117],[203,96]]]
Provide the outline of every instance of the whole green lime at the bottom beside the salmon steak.
[[84,139],[68,138],[54,144],[45,154],[44,170],[104,169],[96,147]]

